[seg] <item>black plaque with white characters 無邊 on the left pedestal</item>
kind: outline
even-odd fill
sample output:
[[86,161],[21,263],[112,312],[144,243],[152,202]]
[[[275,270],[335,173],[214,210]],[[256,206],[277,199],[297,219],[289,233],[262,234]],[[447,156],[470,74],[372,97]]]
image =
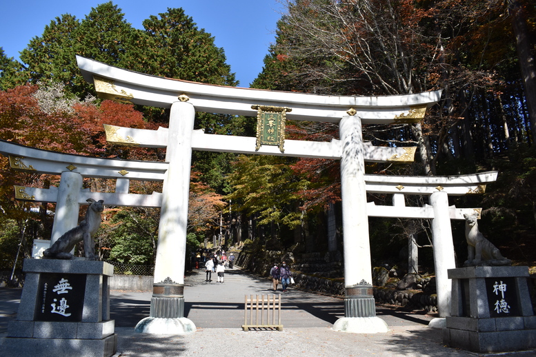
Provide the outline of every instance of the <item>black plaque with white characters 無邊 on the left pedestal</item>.
[[81,322],[86,274],[41,273],[36,321]]

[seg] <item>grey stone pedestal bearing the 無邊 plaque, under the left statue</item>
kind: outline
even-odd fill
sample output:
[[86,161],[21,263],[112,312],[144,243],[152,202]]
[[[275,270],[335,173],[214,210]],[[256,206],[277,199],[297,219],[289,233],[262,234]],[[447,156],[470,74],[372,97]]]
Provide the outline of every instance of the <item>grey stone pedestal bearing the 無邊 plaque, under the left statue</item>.
[[26,259],[17,320],[2,345],[5,356],[113,356],[108,278],[99,261]]

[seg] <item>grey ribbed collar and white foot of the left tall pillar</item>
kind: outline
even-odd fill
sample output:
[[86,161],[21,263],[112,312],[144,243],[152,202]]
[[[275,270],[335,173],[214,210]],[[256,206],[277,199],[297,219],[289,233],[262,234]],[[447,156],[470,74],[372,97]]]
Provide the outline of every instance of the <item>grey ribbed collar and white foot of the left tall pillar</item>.
[[153,284],[150,316],[136,325],[135,332],[185,335],[195,331],[195,324],[184,317],[184,285]]

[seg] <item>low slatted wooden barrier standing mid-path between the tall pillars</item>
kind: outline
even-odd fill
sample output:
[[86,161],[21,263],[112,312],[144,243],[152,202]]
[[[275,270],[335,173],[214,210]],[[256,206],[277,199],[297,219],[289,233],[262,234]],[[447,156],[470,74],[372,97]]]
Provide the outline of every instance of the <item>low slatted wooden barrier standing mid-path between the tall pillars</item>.
[[[249,323],[248,323],[249,313]],[[260,323],[259,323],[260,314]],[[276,321],[277,314],[277,323]],[[254,321],[255,316],[255,321]],[[270,323],[270,316],[271,322]],[[266,320],[265,320],[266,318]],[[250,329],[277,329],[277,331],[283,331],[283,325],[281,325],[281,295],[256,295],[255,298],[251,295],[244,296],[244,325],[242,325],[244,331]]]

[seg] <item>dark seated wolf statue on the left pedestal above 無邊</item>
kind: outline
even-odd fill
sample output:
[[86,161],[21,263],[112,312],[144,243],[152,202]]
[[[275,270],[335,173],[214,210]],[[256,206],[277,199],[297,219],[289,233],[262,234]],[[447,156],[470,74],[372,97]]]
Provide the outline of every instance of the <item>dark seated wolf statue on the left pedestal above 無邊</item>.
[[43,257],[48,259],[72,259],[70,253],[77,243],[83,241],[83,252],[89,261],[96,261],[95,240],[93,234],[97,232],[101,225],[101,214],[104,210],[104,201],[95,201],[93,198],[87,200],[90,205],[86,211],[86,219],[80,222],[77,227],[68,230],[63,236],[54,242],[52,247],[43,252]]

